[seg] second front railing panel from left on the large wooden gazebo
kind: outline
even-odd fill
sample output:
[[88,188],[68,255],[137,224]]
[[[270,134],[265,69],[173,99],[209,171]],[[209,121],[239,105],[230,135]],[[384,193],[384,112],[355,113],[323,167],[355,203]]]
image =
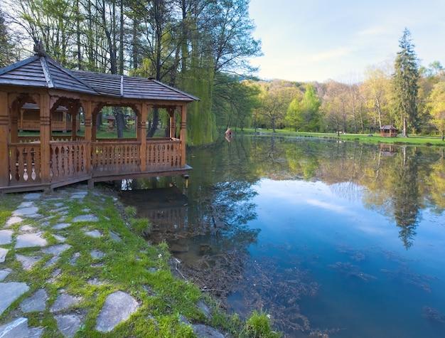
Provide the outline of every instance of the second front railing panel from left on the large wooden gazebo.
[[50,142],[51,182],[87,175],[88,142]]

